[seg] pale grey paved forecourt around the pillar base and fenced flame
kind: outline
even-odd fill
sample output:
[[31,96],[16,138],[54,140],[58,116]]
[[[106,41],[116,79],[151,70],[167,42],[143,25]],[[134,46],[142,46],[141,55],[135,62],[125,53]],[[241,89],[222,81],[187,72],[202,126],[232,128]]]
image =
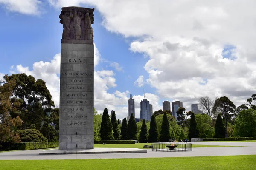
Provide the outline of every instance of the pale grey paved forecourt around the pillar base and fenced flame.
[[[112,158],[161,158],[161,157],[190,157],[190,156],[230,156],[256,155],[256,142],[191,142],[205,145],[230,145],[244,147],[199,147],[192,152],[152,152],[148,153],[109,153],[109,154],[68,154],[68,155],[39,155],[42,150],[26,150],[0,153],[0,160],[37,160],[37,159],[112,159]],[[95,148],[96,149],[96,148]],[[112,148],[113,149],[113,148]],[[128,149],[128,148],[126,148]],[[131,148],[129,148],[131,149]]]

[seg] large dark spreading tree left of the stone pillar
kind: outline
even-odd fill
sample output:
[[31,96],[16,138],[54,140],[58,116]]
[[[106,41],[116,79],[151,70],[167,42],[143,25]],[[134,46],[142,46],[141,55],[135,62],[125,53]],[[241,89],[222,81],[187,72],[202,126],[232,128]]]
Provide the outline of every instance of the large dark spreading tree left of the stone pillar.
[[47,119],[47,112],[55,107],[52,96],[45,82],[35,80],[33,76],[26,74],[5,75],[6,83],[15,83],[12,88],[12,105],[17,105],[17,110],[11,110],[12,118],[20,116],[23,120],[23,129],[36,127],[41,130],[41,122]]

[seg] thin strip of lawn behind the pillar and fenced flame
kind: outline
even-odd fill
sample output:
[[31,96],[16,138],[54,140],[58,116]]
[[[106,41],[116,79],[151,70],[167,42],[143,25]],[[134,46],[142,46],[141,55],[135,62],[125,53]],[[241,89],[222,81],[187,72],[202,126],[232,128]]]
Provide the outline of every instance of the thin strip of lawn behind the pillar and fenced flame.
[[[151,143],[136,143],[136,144],[94,144],[94,147],[108,147],[108,148],[139,148],[143,149],[144,145],[151,145]],[[236,147],[236,146],[218,146],[218,145],[201,145],[201,144],[193,144],[193,148],[195,147]],[[242,147],[242,146],[241,146]],[[145,149],[145,148],[144,148]]]

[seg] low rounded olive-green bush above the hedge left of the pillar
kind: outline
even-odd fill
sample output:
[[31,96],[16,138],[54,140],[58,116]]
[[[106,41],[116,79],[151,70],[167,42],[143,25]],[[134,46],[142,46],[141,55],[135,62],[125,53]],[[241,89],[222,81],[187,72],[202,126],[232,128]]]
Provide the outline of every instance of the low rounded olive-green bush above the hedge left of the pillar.
[[47,142],[47,138],[36,129],[17,130],[16,132],[20,134],[21,142]]

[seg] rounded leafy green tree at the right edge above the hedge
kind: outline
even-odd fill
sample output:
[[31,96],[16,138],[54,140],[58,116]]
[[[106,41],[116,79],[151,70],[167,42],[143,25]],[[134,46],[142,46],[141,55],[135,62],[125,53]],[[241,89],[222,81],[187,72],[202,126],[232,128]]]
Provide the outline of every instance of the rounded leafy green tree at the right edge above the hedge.
[[235,121],[233,135],[236,137],[256,136],[256,110],[248,109],[239,112]]

